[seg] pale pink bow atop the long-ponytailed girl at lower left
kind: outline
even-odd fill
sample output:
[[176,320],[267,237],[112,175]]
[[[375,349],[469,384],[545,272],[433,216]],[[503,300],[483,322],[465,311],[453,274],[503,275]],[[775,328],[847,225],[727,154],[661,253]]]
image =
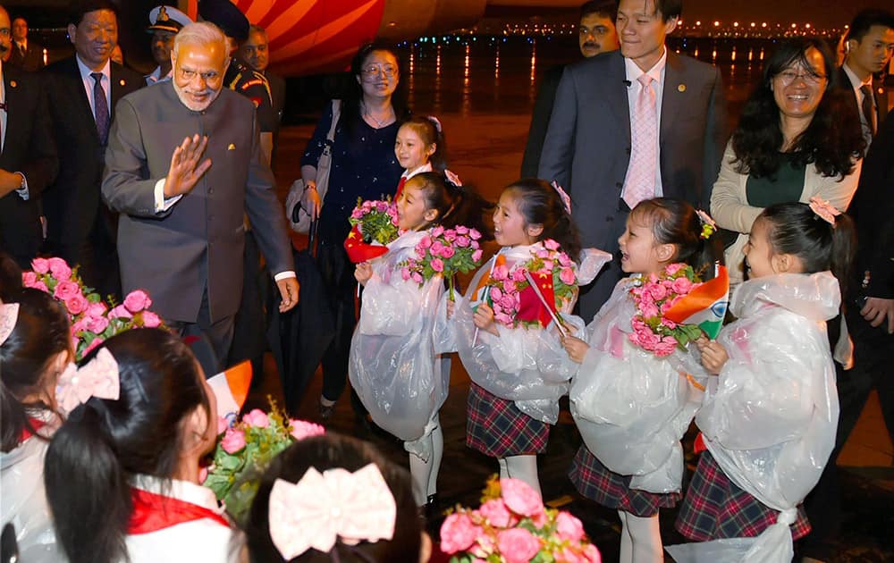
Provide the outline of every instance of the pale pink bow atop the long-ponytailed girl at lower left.
[[70,413],[90,397],[117,400],[121,392],[118,362],[112,352],[102,348],[86,366],[69,364],[56,383],[56,403]]

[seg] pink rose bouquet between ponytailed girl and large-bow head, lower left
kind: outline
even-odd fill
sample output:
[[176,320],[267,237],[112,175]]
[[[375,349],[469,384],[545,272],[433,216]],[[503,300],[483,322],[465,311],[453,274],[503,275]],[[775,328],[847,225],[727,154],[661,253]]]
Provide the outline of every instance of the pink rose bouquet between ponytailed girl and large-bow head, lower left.
[[215,492],[238,522],[248,515],[257,479],[266,466],[292,443],[325,433],[323,426],[289,418],[270,399],[270,412],[259,408],[241,420],[217,421],[217,447],[202,484]]

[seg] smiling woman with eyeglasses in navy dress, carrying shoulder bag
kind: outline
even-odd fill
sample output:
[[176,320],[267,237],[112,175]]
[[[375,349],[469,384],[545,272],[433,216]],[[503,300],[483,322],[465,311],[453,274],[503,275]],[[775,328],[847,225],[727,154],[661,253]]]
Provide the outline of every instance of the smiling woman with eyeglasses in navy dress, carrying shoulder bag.
[[[323,394],[320,417],[333,414],[348,374],[350,338],[356,317],[354,266],[342,244],[348,236],[350,212],[357,199],[383,199],[401,179],[403,168],[394,155],[400,122],[406,117],[401,90],[400,64],[389,46],[362,46],[350,65],[350,88],[341,101],[332,146],[328,189],[317,227],[317,265],[333,308],[335,336],[323,357]],[[316,189],[316,164],[323,154],[333,122],[333,105],[326,107],[314,136],[301,158],[301,178]],[[366,409],[352,400],[361,422]]]

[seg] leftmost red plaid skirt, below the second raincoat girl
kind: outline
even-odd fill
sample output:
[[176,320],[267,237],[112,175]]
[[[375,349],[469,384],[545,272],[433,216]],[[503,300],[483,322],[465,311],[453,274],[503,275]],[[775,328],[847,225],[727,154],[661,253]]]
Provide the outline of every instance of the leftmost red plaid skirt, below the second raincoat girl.
[[492,458],[508,458],[546,451],[550,425],[521,412],[471,382],[466,408],[466,445]]

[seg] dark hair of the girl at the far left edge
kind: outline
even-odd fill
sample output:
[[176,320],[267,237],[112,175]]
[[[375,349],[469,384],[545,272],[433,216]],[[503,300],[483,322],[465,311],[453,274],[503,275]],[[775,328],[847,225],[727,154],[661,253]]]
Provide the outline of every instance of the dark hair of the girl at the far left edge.
[[26,403],[24,398],[46,390],[50,362],[60,352],[70,350],[68,313],[50,294],[25,288],[18,294],[4,296],[4,301],[19,304],[13,332],[0,345],[0,433],[3,451],[19,445],[22,431],[36,434],[28,420],[28,410],[49,408],[48,405]]

